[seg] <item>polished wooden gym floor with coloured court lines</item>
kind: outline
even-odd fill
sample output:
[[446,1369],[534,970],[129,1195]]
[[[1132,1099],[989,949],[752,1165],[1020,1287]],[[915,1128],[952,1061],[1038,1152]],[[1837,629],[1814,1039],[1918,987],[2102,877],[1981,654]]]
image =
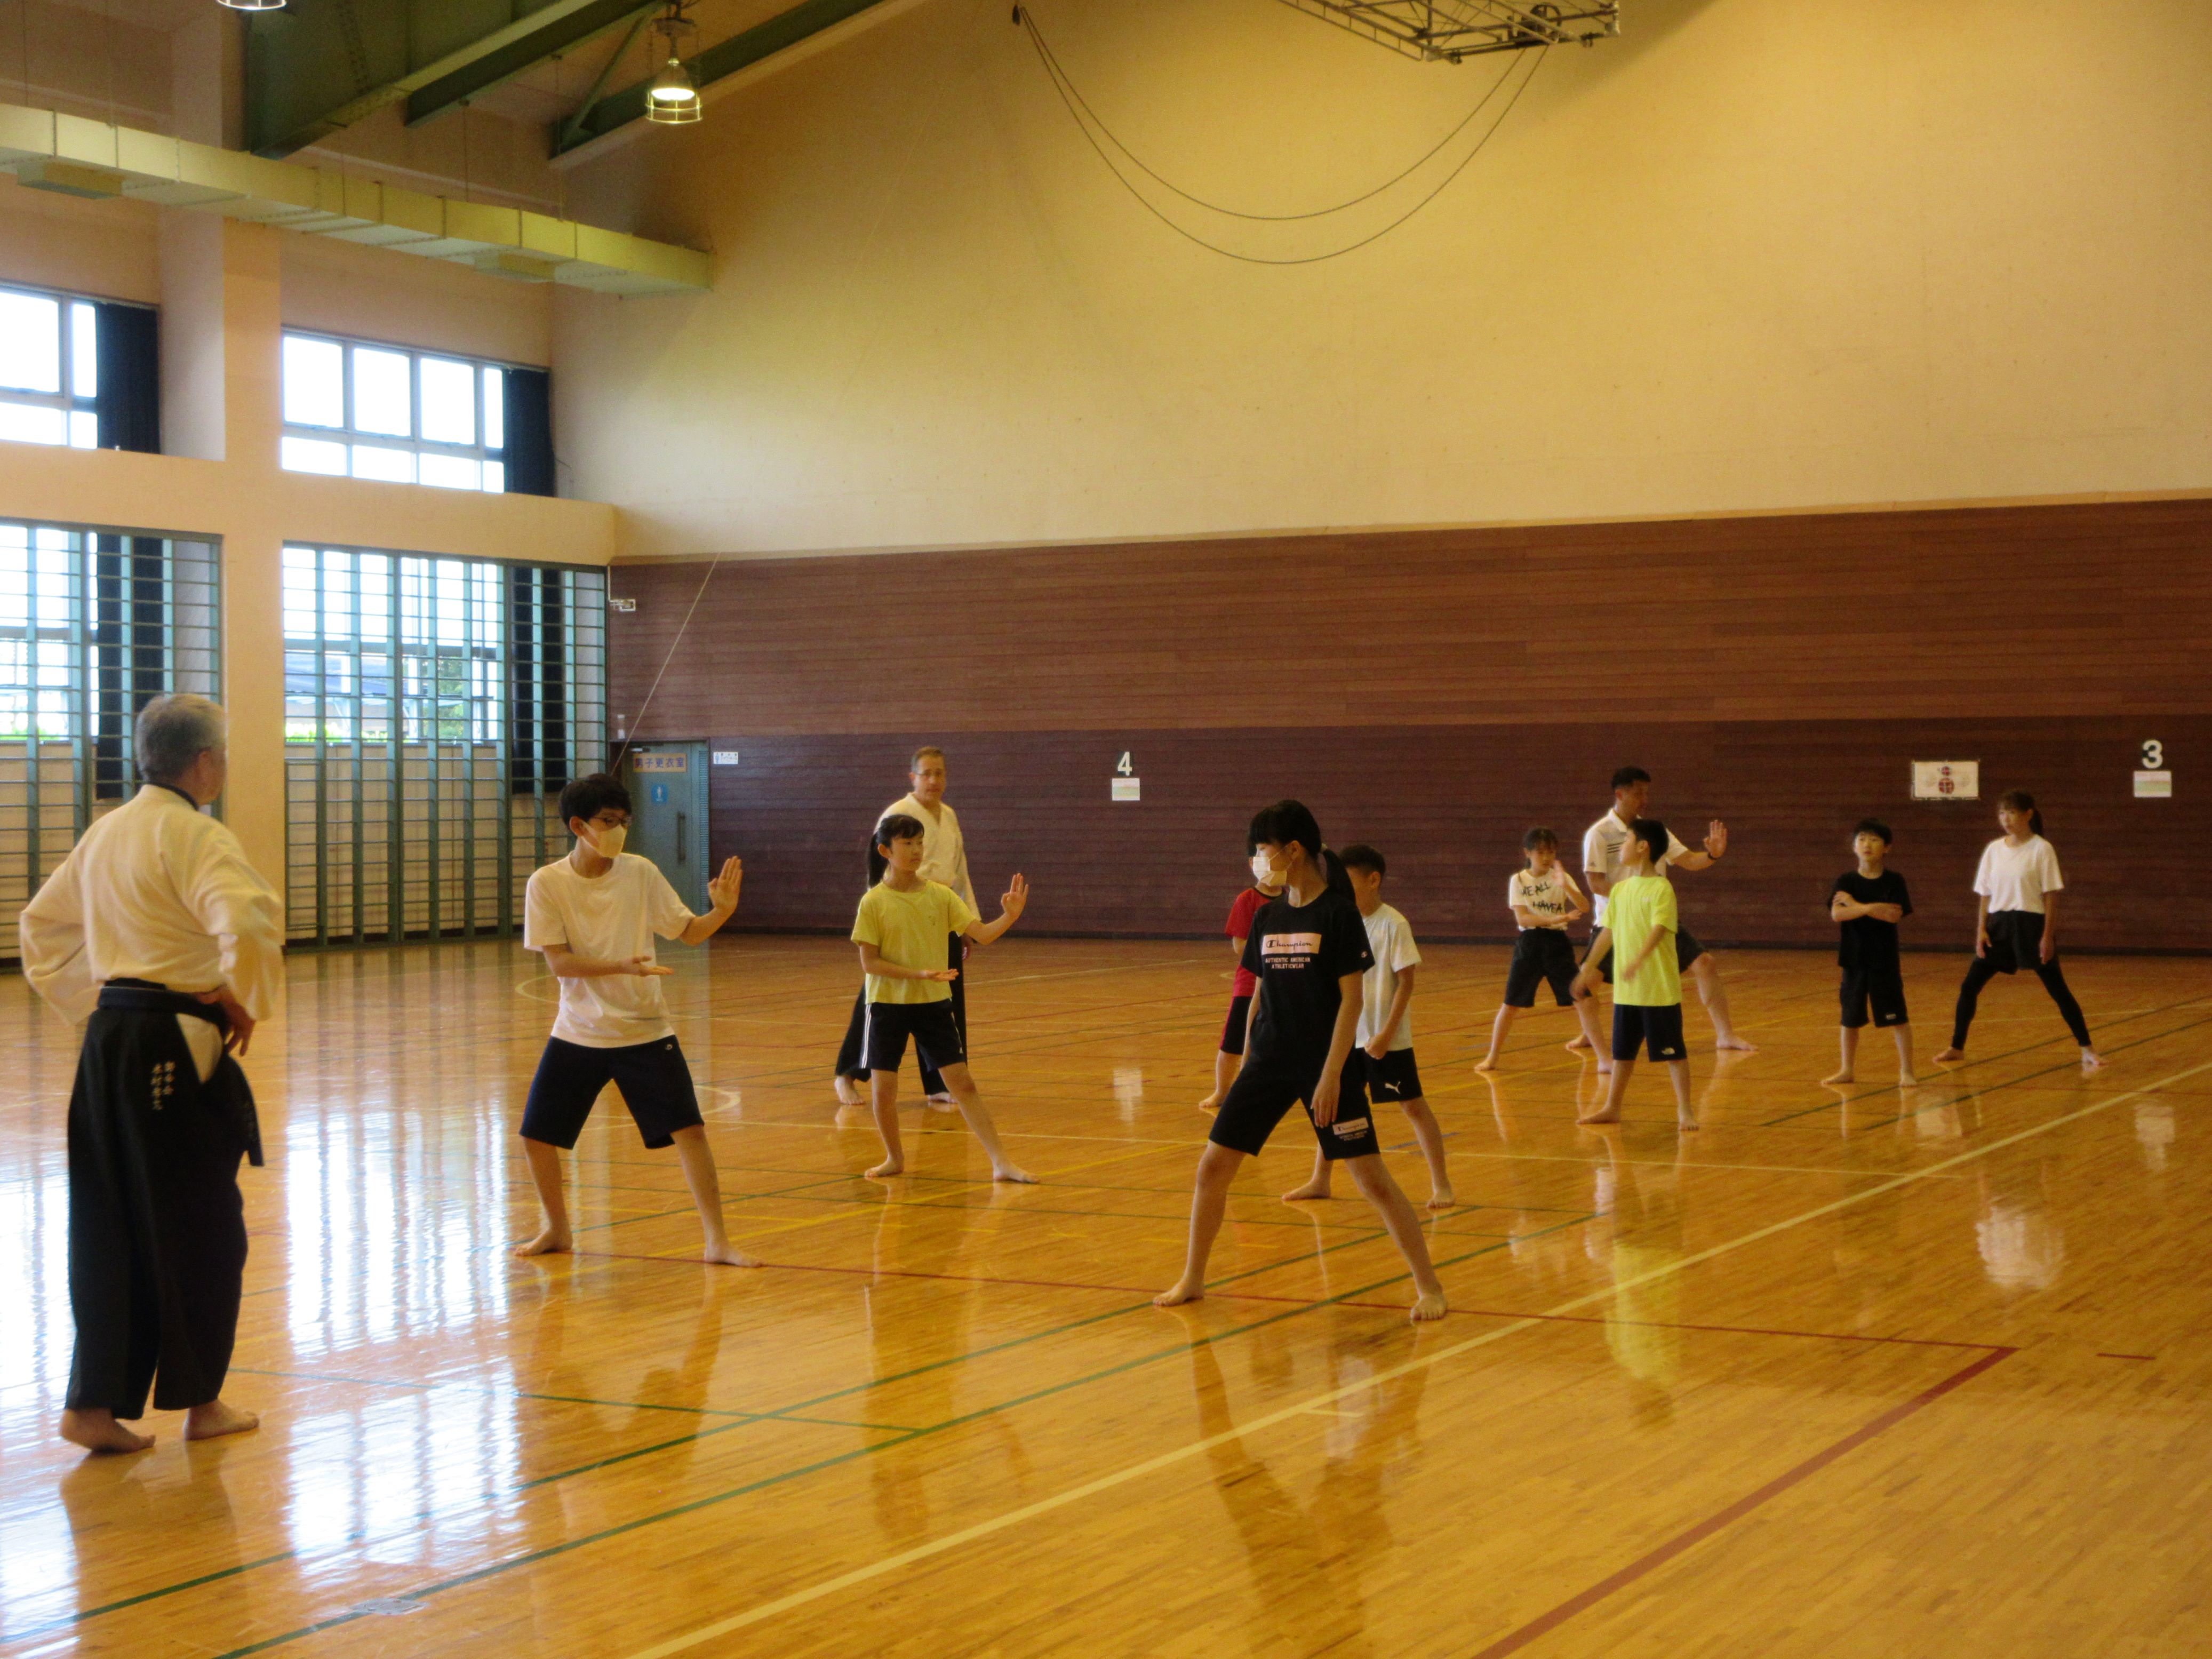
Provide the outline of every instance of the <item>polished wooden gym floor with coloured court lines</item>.
[[[1834,964],[1728,956],[1761,1053],[1577,1130],[1568,1018],[1471,1071],[1504,951],[1436,949],[1416,1031],[1462,1206],[1413,1329],[1343,1190],[1232,1201],[1181,1261],[1228,984],[1210,945],[1009,940],[975,1075],[1044,1183],[909,1115],[876,1186],[827,1060],[834,940],[681,953],[732,1237],[602,1104],[580,1250],[515,1117],[549,984],[511,945],[303,956],[250,1060],[268,1170],[232,1398],[137,1458],[49,1433],[69,1369],[73,1035],[0,982],[7,1655],[2205,1655],[2212,975],[2081,958],[2110,1068],[2033,980],[1973,1064],[1834,1064]],[[1909,958],[1922,1055],[1960,962]],[[1692,1031],[1705,1033],[1692,1011]],[[1385,1108],[1387,1113],[1387,1108]],[[1385,1119],[1387,1121],[1387,1119]],[[1398,1126],[1402,1128],[1402,1124]],[[1394,1137],[1400,1181],[1425,1194]]]

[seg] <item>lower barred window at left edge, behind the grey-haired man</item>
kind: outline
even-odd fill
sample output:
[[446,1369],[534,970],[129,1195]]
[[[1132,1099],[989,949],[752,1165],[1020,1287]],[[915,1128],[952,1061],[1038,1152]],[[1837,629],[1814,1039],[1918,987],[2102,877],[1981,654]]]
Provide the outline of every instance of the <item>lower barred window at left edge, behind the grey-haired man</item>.
[[86,825],[137,790],[131,730],[217,695],[215,549],[0,520],[0,956]]

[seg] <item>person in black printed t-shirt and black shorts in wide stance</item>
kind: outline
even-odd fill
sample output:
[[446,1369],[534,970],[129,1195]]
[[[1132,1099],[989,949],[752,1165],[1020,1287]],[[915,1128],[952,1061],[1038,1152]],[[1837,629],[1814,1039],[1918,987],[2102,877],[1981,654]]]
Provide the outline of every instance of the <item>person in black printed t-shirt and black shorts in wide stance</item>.
[[1323,1157],[1349,1168],[1354,1186],[1383,1217],[1413,1274],[1411,1318],[1442,1318],[1444,1285],[1429,1263],[1420,1217],[1383,1164],[1367,1113],[1352,1040],[1360,1022],[1360,980],[1374,964],[1367,925],[1321,825],[1298,801],[1276,801],[1252,818],[1252,843],[1283,878],[1283,896],[1252,918],[1245,967],[1259,975],[1245,1064],[1230,1084],[1199,1155],[1190,1194],[1190,1245],[1183,1276],[1152,1301],[1159,1307],[1206,1294],[1206,1259],[1221,1232],[1230,1183],[1256,1157],[1283,1115],[1303,1104]]

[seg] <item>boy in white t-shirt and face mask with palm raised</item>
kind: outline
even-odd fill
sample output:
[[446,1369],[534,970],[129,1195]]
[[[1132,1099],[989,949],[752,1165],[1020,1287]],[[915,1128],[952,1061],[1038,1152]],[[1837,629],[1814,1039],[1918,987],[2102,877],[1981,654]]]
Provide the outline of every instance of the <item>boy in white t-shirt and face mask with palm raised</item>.
[[708,883],[714,907],[692,916],[650,858],[622,849],[630,792],[615,779],[604,772],[575,779],[560,792],[560,814],[575,847],[531,876],[522,905],[522,947],[544,951],[560,980],[560,1013],[522,1108],[522,1152],[544,1228],[515,1254],[542,1256],[573,1245],[560,1152],[575,1148],[599,1091],[613,1082],[646,1146],[677,1148],[706,1228],[706,1261],[759,1267],[723,1232],[721,1183],[699,1095],[661,1004],[661,980],[672,969],[653,960],[655,933],[686,945],[714,938],[737,911],[743,865],[726,860]]

